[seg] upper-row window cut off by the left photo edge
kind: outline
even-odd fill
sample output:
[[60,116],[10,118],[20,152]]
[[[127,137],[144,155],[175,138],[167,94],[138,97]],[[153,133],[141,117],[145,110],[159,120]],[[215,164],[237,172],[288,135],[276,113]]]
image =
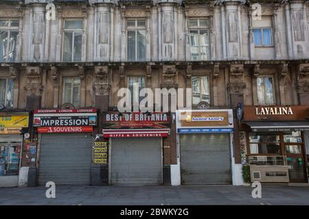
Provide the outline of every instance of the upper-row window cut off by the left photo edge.
[[19,21],[16,19],[0,20],[0,62],[14,62],[16,57]]

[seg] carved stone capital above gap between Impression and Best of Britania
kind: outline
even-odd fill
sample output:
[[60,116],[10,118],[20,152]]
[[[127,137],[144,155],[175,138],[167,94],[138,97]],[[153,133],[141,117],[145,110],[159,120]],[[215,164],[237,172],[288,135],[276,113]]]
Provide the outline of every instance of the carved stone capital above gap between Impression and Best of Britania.
[[108,66],[95,66],[93,90],[96,96],[108,96],[111,86],[108,80]]

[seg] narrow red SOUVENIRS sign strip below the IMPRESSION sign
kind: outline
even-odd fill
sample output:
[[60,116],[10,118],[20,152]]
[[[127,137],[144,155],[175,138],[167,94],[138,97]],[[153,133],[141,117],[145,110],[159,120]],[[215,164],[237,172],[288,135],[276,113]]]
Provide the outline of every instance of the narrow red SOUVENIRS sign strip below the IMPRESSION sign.
[[38,133],[76,133],[92,131],[92,126],[38,127]]

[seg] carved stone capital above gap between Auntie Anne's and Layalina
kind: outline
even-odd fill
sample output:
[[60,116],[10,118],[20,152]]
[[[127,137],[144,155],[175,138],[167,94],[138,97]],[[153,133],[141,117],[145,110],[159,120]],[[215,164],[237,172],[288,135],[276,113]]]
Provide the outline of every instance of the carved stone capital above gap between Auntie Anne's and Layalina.
[[230,66],[230,78],[227,83],[227,88],[231,94],[243,94],[246,83],[244,83],[244,65],[243,64],[231,64]]

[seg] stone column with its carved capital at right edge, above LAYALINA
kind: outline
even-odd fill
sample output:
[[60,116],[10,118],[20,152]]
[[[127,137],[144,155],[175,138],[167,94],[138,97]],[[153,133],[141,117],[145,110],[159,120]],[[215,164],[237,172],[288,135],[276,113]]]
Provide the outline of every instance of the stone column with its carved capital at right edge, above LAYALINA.
[[309,105],[309,64],[299,64],[296,75],[299,104]]

